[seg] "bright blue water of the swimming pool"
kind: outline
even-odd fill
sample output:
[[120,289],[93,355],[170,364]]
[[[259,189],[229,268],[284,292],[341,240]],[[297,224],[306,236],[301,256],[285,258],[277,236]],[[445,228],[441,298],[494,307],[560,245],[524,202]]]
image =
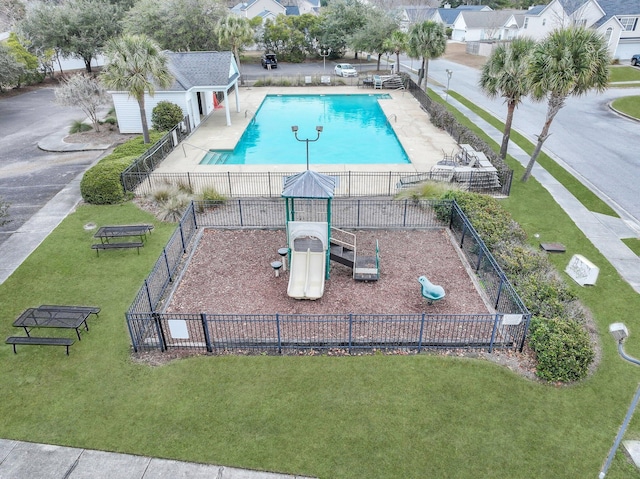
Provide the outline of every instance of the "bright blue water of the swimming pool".
[[410,163],[378,101],[389,95],[267,95],[235,150],[210,150],[201,165]]

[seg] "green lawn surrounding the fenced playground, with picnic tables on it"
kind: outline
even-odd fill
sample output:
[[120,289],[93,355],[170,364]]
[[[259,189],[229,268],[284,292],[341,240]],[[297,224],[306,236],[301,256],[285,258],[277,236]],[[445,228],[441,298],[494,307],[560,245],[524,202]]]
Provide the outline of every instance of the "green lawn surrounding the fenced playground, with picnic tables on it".
[[[503,204],[529,233],[567,245],[551,257],[559,270],[576,252],[601,268],[597,286],[572,284],[602,347],[581,384],[539,384],[488,361],[428,354],[135,363],[124,312],[174,226],[156,223],[139,256],[97,257],[84,224],[154,220],[131,204],[81,206],[0,285],[0,328],[15,334],[13,319],[42,303],[102,312],[68,357],[62,348],[0,348],[0,437],[327,479],[596,477],[640,381],[607,327],[626,321],[626,350],[640,356],[631,322],[640,296],[535,179],[514,182]],[[619,454],[607,477],[637,472]]]

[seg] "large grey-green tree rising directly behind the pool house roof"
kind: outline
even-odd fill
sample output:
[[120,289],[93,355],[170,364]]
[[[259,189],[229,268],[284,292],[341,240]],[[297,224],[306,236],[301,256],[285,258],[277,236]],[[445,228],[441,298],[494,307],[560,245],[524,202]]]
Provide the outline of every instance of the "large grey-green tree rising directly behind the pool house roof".
[[214,33],[227,16],[219,0],[140,0],[123,20],[124,31],[154,39],[174,52],[219,50]]

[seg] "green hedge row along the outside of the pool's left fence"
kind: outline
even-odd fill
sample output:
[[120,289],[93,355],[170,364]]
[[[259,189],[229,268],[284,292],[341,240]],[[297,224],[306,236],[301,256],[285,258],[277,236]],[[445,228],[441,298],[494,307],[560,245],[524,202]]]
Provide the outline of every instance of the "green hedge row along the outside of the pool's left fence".
[[85,172],[80,182],[80,193],[85,202],[93,205],[111,205],[125,200],[120,175],[163,136],[163,133],[156,131],[149,134],[150,143],[145,144],[142,136],[135,137],[115,147],[111,154]]

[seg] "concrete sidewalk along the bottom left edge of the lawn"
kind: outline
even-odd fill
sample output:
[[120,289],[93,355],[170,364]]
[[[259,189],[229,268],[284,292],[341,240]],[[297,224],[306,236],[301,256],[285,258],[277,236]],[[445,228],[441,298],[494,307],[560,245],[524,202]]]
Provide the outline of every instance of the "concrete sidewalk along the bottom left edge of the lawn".
[[302,476],[0,439],[0,478],[302,479]]

